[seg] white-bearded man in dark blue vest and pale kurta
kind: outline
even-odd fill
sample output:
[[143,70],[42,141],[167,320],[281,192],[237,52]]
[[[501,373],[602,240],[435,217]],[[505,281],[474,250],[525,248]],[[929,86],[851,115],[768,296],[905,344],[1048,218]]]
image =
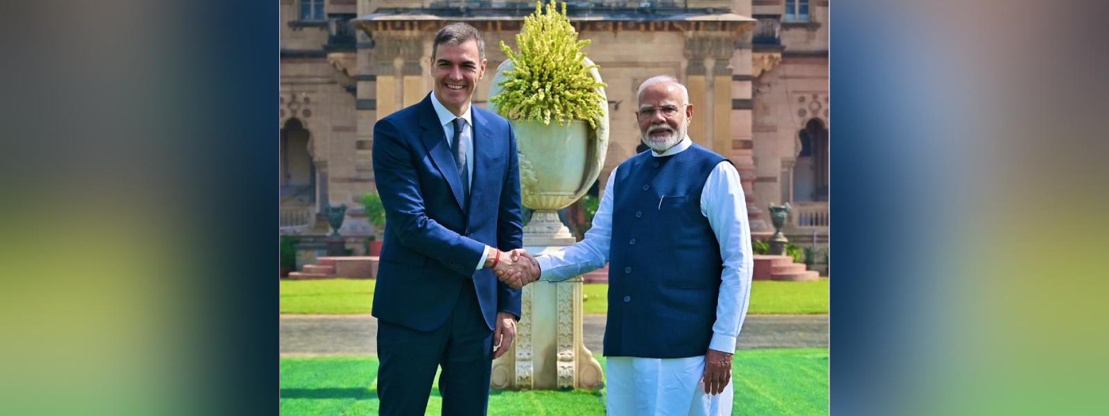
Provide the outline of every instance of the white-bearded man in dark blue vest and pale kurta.
[[610,263],[608,414],[731,415],[753,266],[740,175],[690,141],[678,80],[643,81],[635,115],[651,150],[612,171],[584,240],[536,257],[541,278]]

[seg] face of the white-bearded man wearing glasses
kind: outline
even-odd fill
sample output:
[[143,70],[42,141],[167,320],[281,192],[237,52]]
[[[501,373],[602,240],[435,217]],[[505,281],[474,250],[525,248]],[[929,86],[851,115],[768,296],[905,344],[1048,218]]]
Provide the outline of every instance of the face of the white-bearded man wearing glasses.
[[693,105],[684,100],[681,87],[668,81],[653,82],[639,94],[640,139],[643,144],[662,153],[685,138]]

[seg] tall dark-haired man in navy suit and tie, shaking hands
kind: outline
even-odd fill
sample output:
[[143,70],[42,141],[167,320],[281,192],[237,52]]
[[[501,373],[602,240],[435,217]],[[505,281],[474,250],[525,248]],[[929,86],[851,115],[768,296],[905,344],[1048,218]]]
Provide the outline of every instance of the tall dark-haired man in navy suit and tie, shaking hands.
[[492,358],[520,317],[520,290],[494,272],[533,280],[539,270],[509,253],[523,240],[512,128],[470,105],[486,69],[481,34],[452,23],[431,48],[431,93],[374,125],[388,224],[373,310],[377,395],[383,415],[423,415],[441,366],[442,413],[484,415]]

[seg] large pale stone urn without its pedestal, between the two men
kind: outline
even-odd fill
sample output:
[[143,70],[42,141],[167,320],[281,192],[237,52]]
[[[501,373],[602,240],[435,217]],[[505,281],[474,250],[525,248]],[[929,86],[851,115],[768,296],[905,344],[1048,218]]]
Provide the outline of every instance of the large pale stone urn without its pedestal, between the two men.
[[[587,65],[593,62],[584,59]],[[512,61],[505,61],[497,68],[489,97],[496,97],[502,88],[505,72],[512,70]],[[601,82],[600,72],[593,68],[590,74]],[[520,160],[520,190],[523,205],[535,210],[525,234],[541,233],[558,237],[570,237],[570,230],[558,220],[556,211],[578,201],[593,185],[601,173],[604,155],[609,146],[608,98],[600,89],[601,100],[597,102],[604,116],[591,129],[584,121],[571,121],[566,125],[551,122],[509,120],[516,132]],[[489,102],[489,110],[496,112],[497,104]]]

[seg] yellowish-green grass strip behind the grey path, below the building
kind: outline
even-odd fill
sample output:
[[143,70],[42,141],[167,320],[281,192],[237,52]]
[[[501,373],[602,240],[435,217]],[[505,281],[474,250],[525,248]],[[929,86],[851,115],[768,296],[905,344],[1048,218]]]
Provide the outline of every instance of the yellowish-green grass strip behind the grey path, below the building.
[[[606,314],[609,285],[584,285],[587,314]],[[282,281],[283,314],[368,314],[374,303],[374,281],[322,280]],[[826,314],[828,280],[816,282],[757,281],[751,286],[749,314]]]

